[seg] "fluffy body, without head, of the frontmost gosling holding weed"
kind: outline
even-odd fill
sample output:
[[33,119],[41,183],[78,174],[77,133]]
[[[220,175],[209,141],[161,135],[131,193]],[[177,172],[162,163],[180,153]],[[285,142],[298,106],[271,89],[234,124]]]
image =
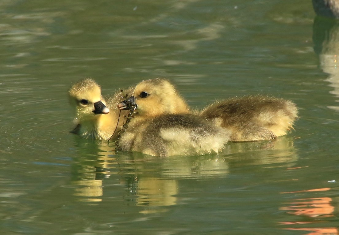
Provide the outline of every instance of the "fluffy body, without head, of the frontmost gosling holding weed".
[[218,153],[230,133],[212,120],[194,114],[165,114],[143,121],[132,119],[119,138],[118,149],[153,156]]

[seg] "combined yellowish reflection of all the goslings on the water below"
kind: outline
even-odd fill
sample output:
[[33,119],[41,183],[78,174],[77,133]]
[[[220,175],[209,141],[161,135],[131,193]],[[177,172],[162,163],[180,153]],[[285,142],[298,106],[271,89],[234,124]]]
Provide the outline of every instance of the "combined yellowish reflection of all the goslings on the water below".
[[124,200],[143,207],[139,212],[144,214],[163,212],[167,206],[178,204],[182,179],[227,177],[230,166],[238,164],[291,167],[297,159],[291,138],[231,143],[220,155],[168,158],[115,152],[114,144],[76,139],[79,152],[73,167],[76,200],[101,202],[106,198],[105,181],[118,181],[113,185],[123,185]]

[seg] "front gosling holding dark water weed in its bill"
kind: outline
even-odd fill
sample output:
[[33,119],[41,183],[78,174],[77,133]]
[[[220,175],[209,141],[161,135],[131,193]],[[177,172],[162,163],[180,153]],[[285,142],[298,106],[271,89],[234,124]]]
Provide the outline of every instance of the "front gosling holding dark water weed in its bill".
[[127,102],[136,105],[135,117],[121,134],[118,149],[153,156],[218,153],[229,140],[229,132],[214,120],[190,114],[174,86],[164,79],[142,81]]

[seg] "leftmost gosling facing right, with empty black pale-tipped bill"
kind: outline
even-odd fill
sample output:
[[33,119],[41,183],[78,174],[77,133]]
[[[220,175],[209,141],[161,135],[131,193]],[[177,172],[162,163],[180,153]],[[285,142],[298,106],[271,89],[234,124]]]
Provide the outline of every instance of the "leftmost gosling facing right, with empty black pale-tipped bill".
[[116,127],[118,131],[121,130],[127,111],[121,111],[119,119],[119,110],[116,107],[123,100],[120,92],[106,97],[105,101],[101,96],[100,86],[94,80],[86,78],[74,84],[69,89],[68,96],[77,124],[72,133],[86,139],[108,140]]

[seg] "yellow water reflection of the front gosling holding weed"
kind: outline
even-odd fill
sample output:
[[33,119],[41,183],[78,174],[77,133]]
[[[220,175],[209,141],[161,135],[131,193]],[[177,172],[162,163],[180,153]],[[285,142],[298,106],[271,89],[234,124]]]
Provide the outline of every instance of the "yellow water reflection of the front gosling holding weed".
[[226,175],[228,164],[218,155],[159,158],[139,153],[119,153],[119,173],[140,213],[165,211],[178,203],[180,179],[206,179]]

